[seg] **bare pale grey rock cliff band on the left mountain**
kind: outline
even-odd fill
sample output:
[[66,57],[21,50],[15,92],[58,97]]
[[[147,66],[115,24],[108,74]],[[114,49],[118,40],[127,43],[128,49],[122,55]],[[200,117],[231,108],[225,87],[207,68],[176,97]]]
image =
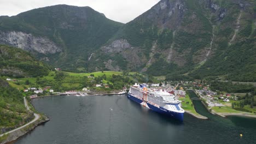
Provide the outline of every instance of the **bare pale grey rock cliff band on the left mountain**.
[[0,43],[19,47],[28,52],[53,54],[61,52],[62,48],[46,37],[36,37],[24,32],[0,31]]

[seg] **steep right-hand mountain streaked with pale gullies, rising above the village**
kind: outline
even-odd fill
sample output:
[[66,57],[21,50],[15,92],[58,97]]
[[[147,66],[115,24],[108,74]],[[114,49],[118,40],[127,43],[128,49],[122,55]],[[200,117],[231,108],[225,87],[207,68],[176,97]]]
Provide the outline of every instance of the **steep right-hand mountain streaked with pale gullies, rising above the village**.
[[152,75],[255,81],[255,10],[252,0],[162,0],[121,28],[95,60],[105,55],[99,63],[107,69]]

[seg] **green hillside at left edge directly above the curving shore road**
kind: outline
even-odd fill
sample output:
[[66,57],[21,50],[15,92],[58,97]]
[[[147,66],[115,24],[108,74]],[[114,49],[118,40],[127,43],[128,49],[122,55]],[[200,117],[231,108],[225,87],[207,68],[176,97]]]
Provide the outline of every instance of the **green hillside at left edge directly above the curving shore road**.
[[22,93],[0,79],[0,134],[15,129],[34,118],[24,106]]

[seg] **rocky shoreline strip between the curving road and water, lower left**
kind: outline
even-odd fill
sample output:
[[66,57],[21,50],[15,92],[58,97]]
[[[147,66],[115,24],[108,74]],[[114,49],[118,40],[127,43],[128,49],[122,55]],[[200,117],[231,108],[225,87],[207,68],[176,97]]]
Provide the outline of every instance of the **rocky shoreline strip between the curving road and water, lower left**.
[[48,117],[40,115],[40,119],[38,119],[38,121],[28,125],[25,128],[22,128],[20,130],[16,130],[13,133],[8,134],[7,137],[4,140],[0,141],[0,144],[14,142],[15,140],[18,140],[21,136],[23,136],[23,135],[27,134],[28,132],[32,131],[38,125],[44,124],[45,122],[48,122],[48,121],[50,121],[50,119]]

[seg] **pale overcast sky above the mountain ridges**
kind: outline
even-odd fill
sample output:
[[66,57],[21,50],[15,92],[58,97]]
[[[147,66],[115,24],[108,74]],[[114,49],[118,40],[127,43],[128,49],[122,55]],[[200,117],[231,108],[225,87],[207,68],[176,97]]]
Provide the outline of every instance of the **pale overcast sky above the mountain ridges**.
[[129,22],[160,0],[0,0],[0,15],[13,16],[27,10],[56,4],[89,6],[109,19]]

